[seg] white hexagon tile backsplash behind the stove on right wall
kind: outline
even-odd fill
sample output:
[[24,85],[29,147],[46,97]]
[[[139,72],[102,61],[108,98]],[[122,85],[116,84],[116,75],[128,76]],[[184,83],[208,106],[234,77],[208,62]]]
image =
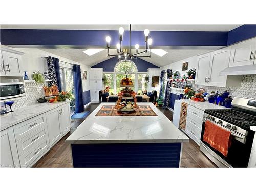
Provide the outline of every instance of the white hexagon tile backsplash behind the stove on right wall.
[[[245,81],[245,78],[248,77],[248,81]],[[219,91],[223,92],[227,89],[232,97],[241,97],[247,99],[256,100],[256,75],[243,75],[241,87],[212,87],[212,86],[196,86],[193,85],[194,90],[198,90],[203,87],[206,92],[210,91]]]

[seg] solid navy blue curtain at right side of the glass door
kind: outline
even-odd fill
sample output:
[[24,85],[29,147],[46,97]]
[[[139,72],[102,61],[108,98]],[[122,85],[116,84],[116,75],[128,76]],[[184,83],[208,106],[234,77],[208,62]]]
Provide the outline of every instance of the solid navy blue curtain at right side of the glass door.
[[74,91],[75,91],[75,112],[80,113],[84,111],[82,101],[82,77],[81,68],[79,65],[73,65],[73,79],[74,79]]

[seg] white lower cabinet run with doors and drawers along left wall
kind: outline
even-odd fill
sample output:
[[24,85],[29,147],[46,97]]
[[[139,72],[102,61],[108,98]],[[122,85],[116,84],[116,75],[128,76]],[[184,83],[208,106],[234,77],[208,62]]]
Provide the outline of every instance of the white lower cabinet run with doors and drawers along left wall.
[[71,127],[69,103],[0,132],[1,167],[30,167]]

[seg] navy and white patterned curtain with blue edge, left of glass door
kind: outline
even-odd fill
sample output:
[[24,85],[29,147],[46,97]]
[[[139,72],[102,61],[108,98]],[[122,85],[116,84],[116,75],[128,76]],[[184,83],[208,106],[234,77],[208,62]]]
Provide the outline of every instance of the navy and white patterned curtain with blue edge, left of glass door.
[[51,82],[48,83],[48,86],[51,87],[54,84],[57,85],[58,90],[62,91],[61,79],[59,73],[59,59],[54,57],[46,57],[48,65],[48,77]]

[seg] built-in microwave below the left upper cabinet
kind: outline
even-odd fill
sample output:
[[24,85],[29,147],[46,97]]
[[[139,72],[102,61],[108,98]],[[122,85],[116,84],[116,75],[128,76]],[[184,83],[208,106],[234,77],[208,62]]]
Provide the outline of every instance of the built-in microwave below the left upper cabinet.
[[23,82],[0,83],[0,100],[25,96]]

